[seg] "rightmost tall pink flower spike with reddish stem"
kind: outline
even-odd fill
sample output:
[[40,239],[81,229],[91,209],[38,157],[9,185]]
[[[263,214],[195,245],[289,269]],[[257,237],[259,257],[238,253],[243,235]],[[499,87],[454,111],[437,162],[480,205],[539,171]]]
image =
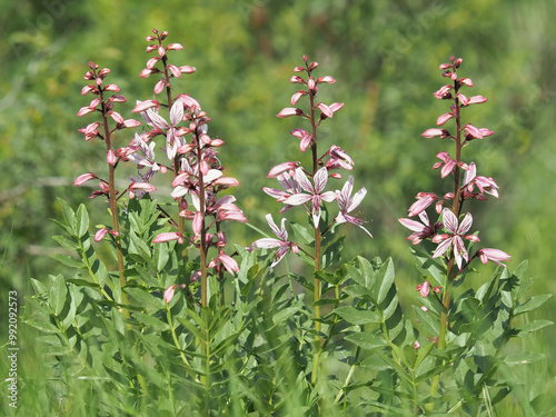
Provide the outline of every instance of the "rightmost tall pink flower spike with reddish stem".
[[[409,208],[409,217],[419,216],[421,222],[404,218],[399,221],[414,231],[407,239],[414,245],[423,240],[431,240],[436,244],[436,250],[431,258],[441,258],[445,262],[446,276],[441,284],[440,302],[443,309],[440,312],[439,334],[437,336],[438,348],[446,348],[447,331],[449,328],[448,312],[450,309],[450,287],[453,281],[463,276],[467,266],[476,258],[479,258],[484,264],[488,260],[500,264],[500,261],[509,260],[509,255],[492,248],[477,250],[474,255],[469,255],[469,245],[465,241],[478,242],[477,234],[468,231],[473,225],[473,216],[470,212],[464,212],[465,202],[469,199],[486,200],[485,193],[498,197],[498,186],[492,178],[477,176],[475,162],[466,163],[461,159],[463,148],[477,139],[485,139],[494,133],[487,128],[477,128],[470,123],[463,121],[463,113],[470,105],[484,103],[487,99],[483,96],[467,97],[463,90],[474,87],[469,78],[460,78],[457,71],[463,62],[461,58],[455,59],[450,57],[449,63],[440,64],[443,77],[450,80],[450,83],[443,86],[434,96],[439,100],[451,102],[449,111],[441,115],[437,119],[437,128],[427,129],[423,136],[425,138],[451,139],[455,146],[455,158],[449,152],[443,151],[437,155],[439,159],[433,168],[440,169],[443,179],[451,177],[454,191],[445,196],[437,196],[434,192],[419,192],[416,197],[417,201]],[[454,119],[455,132],[450,133],[445,123]],[[439,221],[430,226],[426,209],[435,203],[436,212],[440,215]],[[444,232],[440,232],[444,229]],[[487,255],[485,255],[487,254]],[[428,290],[423,291],[423,288],[429,288],[428,281],[425,285],[419,285],[418,290],[423,297],[428,296]],[[438,288],[438,290],[440,290]],[[435,336],[436,337],[436,336]],[[438,389],[439,376],[436,376],[431,384],[431,394]]]

